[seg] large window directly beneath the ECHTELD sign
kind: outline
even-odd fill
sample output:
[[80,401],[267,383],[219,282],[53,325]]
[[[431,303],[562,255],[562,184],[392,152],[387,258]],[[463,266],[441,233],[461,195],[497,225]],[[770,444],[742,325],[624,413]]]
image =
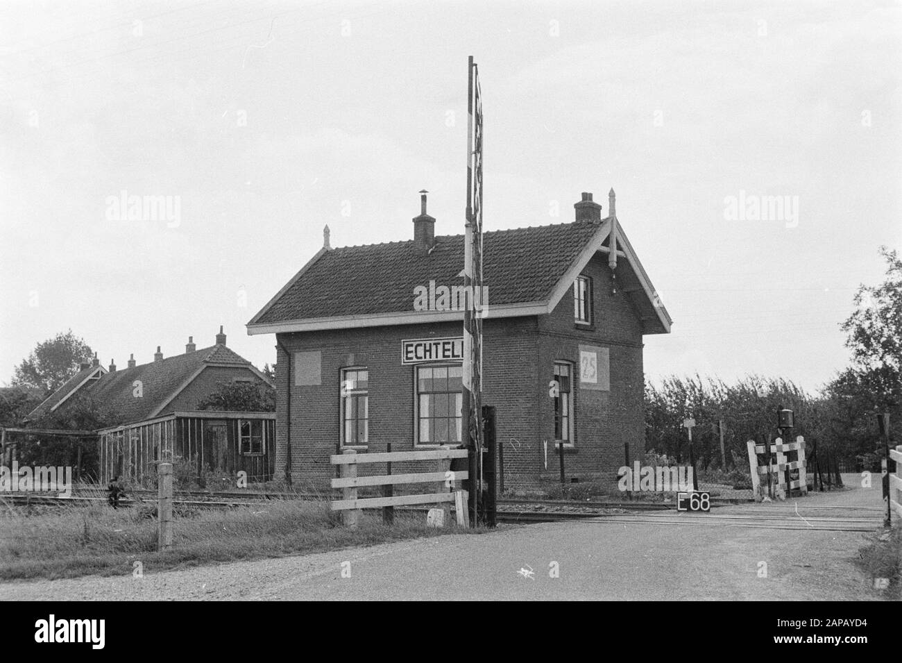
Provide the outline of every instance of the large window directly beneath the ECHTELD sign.
[[417,366],[417,440],[422,445],[459,444],[463,366]]

